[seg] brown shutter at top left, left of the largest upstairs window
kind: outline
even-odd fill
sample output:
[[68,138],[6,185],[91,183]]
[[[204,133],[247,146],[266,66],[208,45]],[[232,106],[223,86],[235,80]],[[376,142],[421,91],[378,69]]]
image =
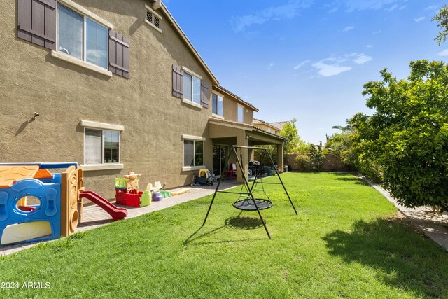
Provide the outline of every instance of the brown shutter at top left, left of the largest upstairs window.
[[18,0],[17,37],[56,50],[57,0]]

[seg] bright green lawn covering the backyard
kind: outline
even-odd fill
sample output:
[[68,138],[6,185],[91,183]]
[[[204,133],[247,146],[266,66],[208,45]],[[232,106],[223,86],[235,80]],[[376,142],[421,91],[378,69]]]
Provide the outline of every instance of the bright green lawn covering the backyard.
[[[253,212],[219,194],[0,258],[3,298],[448,298],[441,246],[350,174],[282,175],[298,216],[269,185],[274,207]],[[275,181],[270,178],[269,181]]]

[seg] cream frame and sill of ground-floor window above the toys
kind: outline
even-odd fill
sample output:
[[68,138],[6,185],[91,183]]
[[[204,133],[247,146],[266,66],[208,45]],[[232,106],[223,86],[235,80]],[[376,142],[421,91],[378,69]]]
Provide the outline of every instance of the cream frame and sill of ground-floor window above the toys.
[[[121,133],[125,130],[123,125],[111,125],[108,123],[97,123],[89,120],[81,120],[80,126],[84,128],[83,136],[83,167],[84,170],[107,170],[107,169],[123,169],[124,165],[121,160]],[[102,163],[101,164],[85,164],[85,130],[97,130],[102,131]],[[118,134],[118,162],[116,163],[104,163],[104,131],[116,131]]]

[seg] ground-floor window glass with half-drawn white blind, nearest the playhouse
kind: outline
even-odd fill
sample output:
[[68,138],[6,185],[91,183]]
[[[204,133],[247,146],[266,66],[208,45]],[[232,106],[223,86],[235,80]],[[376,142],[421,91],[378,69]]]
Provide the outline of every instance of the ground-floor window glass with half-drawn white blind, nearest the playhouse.
[[112,130],[85,129],[84,164],[120,162],[120,132]]

